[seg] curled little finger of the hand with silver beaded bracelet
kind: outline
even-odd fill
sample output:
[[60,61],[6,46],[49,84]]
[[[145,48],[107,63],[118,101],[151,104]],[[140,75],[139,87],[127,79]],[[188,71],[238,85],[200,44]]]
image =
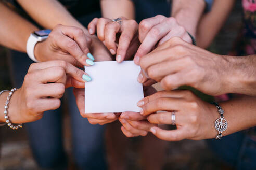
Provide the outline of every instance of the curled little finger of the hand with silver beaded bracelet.
[[58,98],[42,98],[34,103],[34,112],[40,113],[48,110],[55,110],[60,107]]

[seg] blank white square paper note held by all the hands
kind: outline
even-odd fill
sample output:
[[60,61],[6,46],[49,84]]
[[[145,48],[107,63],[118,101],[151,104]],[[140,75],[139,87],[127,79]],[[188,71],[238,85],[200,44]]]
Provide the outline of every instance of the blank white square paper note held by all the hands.
[[137,81],[140,67],[133,61],[95,62],[85,72],[92,78],[85,83],[85,113],[140,110],[143,87]]

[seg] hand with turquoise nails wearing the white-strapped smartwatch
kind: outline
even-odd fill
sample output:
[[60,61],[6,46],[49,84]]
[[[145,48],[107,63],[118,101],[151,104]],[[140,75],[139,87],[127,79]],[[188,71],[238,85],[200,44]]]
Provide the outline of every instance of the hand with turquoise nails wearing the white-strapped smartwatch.
[[39,61],[64,60],[78,67],[91,66],[91,43],[92,39],[82,29],[59,24],[45,41],[36,44],[35,57]]

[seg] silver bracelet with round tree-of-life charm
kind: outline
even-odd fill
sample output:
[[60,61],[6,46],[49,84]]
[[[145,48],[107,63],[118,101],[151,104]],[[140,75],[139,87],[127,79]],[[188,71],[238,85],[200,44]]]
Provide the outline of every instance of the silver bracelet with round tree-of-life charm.
[[214,123],[215,129],[218,131],[218,134],[216,135],[215,139],[220,140],[222,137],[222,132],[227,129],[227,121],[226,119],[224,119],[224,110],[221,108],[221,106],[216,102],[213,102],[213,104],[217,107],[217,111],[221,115],[220,118],[218,118]]

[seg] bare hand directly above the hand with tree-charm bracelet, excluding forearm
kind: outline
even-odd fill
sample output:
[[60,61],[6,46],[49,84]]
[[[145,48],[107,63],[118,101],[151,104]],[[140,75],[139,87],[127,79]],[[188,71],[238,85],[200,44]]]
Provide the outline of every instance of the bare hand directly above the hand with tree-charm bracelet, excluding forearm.
[[143,56],[139,65],[149,78],[161,82],[164,90],[187,85],[209,95],[221,95],[234,84],[229,80],[234,76],[228,76],[228,60],[174,37]]

